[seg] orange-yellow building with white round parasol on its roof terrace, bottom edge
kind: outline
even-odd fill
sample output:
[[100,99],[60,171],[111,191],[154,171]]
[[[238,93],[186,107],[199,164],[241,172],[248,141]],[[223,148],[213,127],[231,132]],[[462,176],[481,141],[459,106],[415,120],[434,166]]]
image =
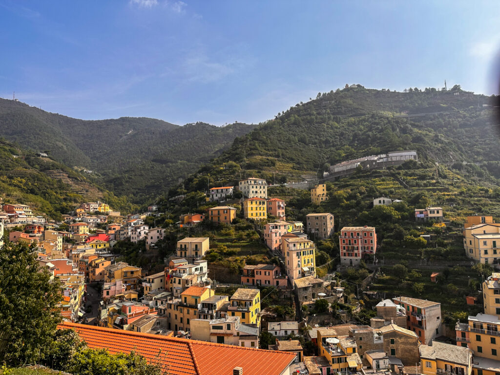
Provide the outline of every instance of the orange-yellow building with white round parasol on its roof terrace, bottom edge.
[[362,367],[354,337],[338,336],[333,328],[317,330],[318,354],[330,363],[332,373],[356,372]]

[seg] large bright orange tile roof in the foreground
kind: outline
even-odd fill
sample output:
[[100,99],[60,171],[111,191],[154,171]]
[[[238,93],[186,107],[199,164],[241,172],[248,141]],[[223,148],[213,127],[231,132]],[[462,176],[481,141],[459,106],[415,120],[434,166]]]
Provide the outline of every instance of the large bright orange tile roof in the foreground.
[[295,353],[254,349],[188,340],[184,338],[139,333],[78,323],[63,322],[59,329],[73,328],[91,348],[106,348],[110,353],[135,350],[146,359],[161,350],[170,375],[232,375],[242,367],[245,375],[281,375]]

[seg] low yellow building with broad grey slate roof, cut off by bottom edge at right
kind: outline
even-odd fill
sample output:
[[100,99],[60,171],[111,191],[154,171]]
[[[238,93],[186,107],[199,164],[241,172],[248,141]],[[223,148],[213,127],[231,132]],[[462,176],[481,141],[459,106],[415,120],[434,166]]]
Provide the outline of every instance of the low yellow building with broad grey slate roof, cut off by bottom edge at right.
[[468,347],[432,341],[431,346],[420,345],[420,368],[425,375],[471,375],[472,352]]

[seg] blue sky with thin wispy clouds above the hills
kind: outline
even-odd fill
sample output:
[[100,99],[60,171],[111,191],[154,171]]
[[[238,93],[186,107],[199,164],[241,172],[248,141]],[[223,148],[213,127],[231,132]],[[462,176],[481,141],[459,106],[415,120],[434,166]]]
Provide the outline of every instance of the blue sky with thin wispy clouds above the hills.
[[498,1],[0,0],[0,96],[84,119],[260,122],[317,92],[490,94]]

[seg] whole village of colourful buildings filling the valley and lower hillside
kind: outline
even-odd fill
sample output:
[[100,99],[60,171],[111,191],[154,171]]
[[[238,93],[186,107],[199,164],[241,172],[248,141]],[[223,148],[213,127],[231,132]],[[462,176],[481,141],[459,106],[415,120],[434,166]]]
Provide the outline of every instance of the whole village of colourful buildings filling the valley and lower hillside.
[[[310,199],[318,207],[328,200],[326,184],[311,186]],[[155,225],[155,217],[161,214],[159,204],[124,216],[104,202],[82,202],[55,222],[41,213],[35,216],[28,205],[4,203],[0,238],[5,231],[9,241],[33,246],[39,264],[62,282],[62,326],[88,335],[94,347],[103,345],[97,339],[93,342],[94,336],[133,343],[138,336],[131,332],[135,332],[147,334],[151,347],[166,345],[167,338],[174,337],[291,353],[276,357],[280,367],[275,373],[500,373],[496,344],[500,273],[485,275],[478,285],[480,294],[463,297],[480,312],[447,324],[441,301],[387,295],[375,287],[380,282],[377,278],[385,277],[376,227],[349,223],[338,227],[339,218],[330,212],[308,213],[304,222],[287,221],[285,200],[269,197],[268,183],[261,178],[212,187],[205,201],[211,205],[206,212],[184,213],[173,224],[194,235],[177,238],[175,248],[163,259],[163,269],[153,273],[123,261],[113,247],[129,241],[143,243],[145,254],[154,251],[166,236],[166,229]],[[373,206],[394,202],[386,196],[373,198]],[[219,243],[215,252],[213,237],[198,236],[195,228],[203,222],[230,228],[237,215],[259,228],[265,259],[271,260],[248,257],[236,282],[225,282],[220,276],[224,270],[216,269],[213,254],[227,256],[223,251],[229,250]],[[444,225],[445,212],[439,206],[416,208],[414,220],[439,227]],[[318,241],[331,239],[335,232],[338,266],[316,264]],[[433,237],[420,235],[424,243]],[[462,237],[463,251],[472,263],[498,263],[500,224],[491,215],[468,216]],[[448,279],[442,269],[436,266],[431,272],[432,283]],[[342,270],[354,278],[365,277],[350,282],[342,278]],[[146,346],[136,345],[139,352],[147,351]],[[265,353],[245,351],[240,363],[252,366],[264,360]],[[245,373],[244,366],[229,370]]]

